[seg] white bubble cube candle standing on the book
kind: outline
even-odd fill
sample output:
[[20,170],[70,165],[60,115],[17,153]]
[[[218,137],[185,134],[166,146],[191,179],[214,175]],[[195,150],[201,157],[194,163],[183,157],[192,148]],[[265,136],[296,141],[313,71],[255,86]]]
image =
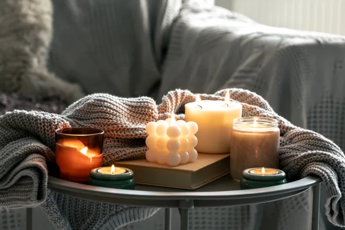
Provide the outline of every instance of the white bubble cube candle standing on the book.
[[177,166],[195,162],[198,157],[194,149],[198,139],[194,135],[198,125],[184,120],[175,121],[174,115],[166,120],[151,121],[146,125],[146,159],[162,165]]

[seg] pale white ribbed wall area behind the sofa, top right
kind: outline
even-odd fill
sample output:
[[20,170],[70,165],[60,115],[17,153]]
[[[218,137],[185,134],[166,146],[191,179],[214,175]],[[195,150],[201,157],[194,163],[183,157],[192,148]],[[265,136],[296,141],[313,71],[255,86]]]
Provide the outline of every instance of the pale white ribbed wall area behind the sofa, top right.
[[216,0],[270,26],[345,35],[345,0]]

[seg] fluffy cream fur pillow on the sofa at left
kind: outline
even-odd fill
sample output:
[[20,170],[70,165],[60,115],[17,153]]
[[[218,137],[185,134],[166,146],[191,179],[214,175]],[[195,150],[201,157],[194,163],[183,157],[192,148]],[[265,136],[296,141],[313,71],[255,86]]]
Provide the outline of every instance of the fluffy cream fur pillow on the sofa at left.
[[47,70],[52,18],[51,0],[0,0],[0,91],[68,103],[84,96]]

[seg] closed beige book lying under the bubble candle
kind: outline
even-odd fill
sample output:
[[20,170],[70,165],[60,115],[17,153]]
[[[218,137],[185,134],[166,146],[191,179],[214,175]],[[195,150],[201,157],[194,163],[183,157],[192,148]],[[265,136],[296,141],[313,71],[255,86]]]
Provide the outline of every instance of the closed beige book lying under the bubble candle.
[[230,154],[199,153],[193,163],[175,167],[146,159],[112,163],[131,169],[137,184],[194,190],[229,173]]

